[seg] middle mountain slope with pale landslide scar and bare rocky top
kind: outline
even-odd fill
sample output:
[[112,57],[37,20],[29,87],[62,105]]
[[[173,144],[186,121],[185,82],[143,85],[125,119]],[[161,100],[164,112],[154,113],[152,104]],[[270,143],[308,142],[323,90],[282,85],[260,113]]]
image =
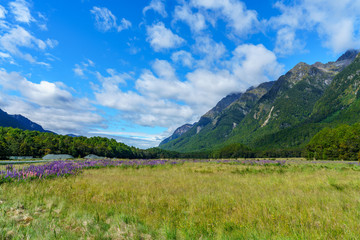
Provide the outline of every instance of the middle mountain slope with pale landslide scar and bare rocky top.
[[347,64],[347,60],[297,64],[259,100],[229,141],[255,146],[262,136],[300,124],[310,116],[332,79]]

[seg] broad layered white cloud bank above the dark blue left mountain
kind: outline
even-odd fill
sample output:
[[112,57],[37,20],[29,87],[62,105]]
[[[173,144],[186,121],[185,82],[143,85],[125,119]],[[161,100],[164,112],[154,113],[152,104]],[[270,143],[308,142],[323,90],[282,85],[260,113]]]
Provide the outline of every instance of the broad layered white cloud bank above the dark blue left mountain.
[[[17,72],[0,69],[2,87],[0,106],[10,114],[22,114],[57,133],[80,133],[80,129],[100,124],[103,119],[93,112],[89,100],[75,98],[61,83],[33,83]],[[20,96],[7,95],[17,91]]]

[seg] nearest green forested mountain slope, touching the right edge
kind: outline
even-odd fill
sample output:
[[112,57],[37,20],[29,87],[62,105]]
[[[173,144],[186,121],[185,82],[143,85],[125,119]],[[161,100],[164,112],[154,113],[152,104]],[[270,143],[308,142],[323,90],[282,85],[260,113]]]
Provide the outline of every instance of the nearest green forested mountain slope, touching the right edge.
[[[349,51],[344,56],[349,56]],[[347,60],[353,60],[357,51]],[[339,61],[339,60],[338,60]],[[350,63],[349,61],[348,63]],[[254,141],[253,145],[269,148],[304,147],[310,139],[325,127],[341,124],[352,125],[360,121],[360,58],[351,62],[337,74],[324,94],[315,103],[309,118],[299,125],[268,134]]]

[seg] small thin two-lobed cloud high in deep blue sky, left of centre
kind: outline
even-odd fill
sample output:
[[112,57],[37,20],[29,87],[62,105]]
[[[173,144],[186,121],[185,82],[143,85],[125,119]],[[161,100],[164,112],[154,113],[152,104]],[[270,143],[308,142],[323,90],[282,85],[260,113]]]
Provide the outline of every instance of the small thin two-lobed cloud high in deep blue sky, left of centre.
[[107,8],[93,7],[90,12],[95,16],[96,27],[102,32],[107,32],[111,29],[116,29],[116,31],[121,32],[131,27],[131,22],[125,18],[122,18],[118,25],[116,22],[117,18]]

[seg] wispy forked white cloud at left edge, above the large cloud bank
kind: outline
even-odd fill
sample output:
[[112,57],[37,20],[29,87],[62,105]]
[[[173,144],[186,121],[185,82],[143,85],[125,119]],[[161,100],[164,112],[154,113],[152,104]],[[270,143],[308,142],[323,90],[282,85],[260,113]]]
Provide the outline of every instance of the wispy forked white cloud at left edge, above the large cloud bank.
[[57,44],[57,41],[48,39],[44,42],[31,35],[27,30],[20,26],[11,28],[7,33],[0,36],[0,49],[5,50],[13,56],[18,56],[27,60],[30,63],[36,63],[40,65],[48,66],[47,63],[38,62],[33,56],[28,53],[23,53],[20,48],[30,48],[45,50],[46,48],[52,48]]

